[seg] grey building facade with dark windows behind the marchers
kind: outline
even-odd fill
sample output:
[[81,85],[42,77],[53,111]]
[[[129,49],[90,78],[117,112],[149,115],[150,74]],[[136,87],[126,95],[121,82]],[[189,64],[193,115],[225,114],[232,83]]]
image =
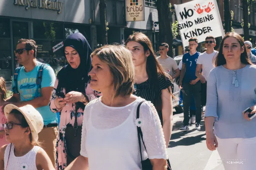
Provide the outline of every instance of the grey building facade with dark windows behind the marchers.
[[[145,3],[145,21],[125,21],[125,0],[106,0],[108,43],[124,44],[134,31],[154,41],[151,0]],[[33,39],[38,45],[37,59],[58,71],[67,64],[63,48],[52,47],[75,32],[81,32],[92,49],[100,41],[99,0],[0,0],[0,77],[11,80],[19,66],[14,50],[20,38]]]

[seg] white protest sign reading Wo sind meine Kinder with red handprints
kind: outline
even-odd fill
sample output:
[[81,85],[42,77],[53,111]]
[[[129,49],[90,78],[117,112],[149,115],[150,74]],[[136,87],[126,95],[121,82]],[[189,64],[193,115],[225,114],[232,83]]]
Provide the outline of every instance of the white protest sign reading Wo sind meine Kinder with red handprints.
[[216,0],[193,0],[174,6],[184,48],[189,45],[191,37],[197,37],[198,42],[210,35],[224,37]]

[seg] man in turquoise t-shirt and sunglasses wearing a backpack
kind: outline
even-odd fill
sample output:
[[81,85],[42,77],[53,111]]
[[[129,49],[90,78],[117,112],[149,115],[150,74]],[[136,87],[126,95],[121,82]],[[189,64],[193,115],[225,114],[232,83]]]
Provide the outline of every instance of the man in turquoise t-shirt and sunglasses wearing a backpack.
[[[55,165],[58,122],[56,113],[49,108],[55,84],[55,73],[48,64],[39,62],[37,45],[34,40],[20,39],[15,50],[17,62],[23,67],[16,68],[12,79],[13,96],[8,104],[22,107],[32,105],[42,115],[44,128],[38,134],[44,150]],[[39,73],[41,73],[39,75]]]

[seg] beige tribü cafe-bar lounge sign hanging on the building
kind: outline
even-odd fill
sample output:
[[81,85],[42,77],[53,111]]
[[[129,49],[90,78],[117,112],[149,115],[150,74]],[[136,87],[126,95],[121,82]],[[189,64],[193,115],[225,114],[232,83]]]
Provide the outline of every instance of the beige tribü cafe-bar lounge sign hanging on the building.
[[144,0],[125,0],[126,21],[144,21]]

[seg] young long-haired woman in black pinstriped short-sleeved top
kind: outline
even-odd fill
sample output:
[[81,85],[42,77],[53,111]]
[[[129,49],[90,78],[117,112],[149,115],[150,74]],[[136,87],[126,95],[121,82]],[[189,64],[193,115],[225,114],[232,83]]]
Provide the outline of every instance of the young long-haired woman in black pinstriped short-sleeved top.
[[168,147],[172,133],[172,89],[171,77],[163,71],[157,61],[149,38],[136,32],[128,37],[126,47],[133,52],[135,66],[134,94],[152,102],[157,109]]

